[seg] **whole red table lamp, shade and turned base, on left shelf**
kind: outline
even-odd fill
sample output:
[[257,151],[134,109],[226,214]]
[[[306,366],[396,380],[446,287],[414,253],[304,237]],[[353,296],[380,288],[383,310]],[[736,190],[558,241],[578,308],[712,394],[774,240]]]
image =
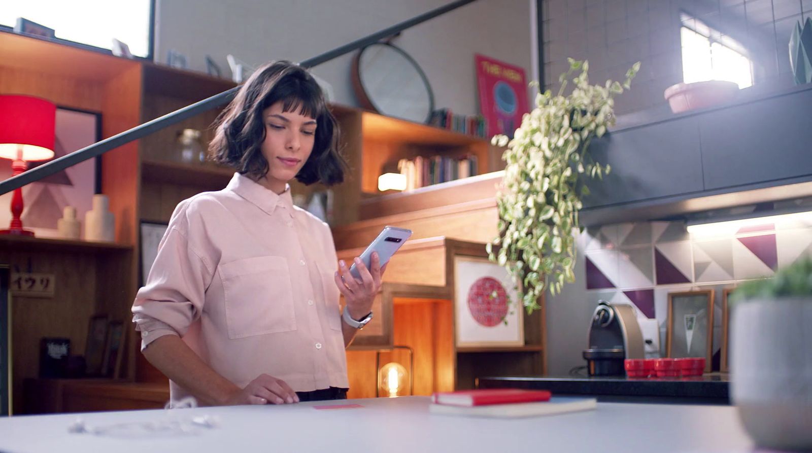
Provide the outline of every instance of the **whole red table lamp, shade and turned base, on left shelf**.
[[[11,159],[14,176],[28,168],[28,162],[54,157],[56,106],[39,97],[0,95],[0,157]],[[23,189],[11,198],[11,227],[3,235],[34,235],[23,229]]]

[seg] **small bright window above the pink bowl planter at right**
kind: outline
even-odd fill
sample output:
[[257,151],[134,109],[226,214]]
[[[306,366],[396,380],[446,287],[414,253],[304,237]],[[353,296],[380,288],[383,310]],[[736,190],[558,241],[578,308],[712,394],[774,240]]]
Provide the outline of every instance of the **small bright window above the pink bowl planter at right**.
[[753,84],[753,65],[738,41],[686,14],[682,15],[680,38],[686,84],[703,80],[728,80],[739,88]]

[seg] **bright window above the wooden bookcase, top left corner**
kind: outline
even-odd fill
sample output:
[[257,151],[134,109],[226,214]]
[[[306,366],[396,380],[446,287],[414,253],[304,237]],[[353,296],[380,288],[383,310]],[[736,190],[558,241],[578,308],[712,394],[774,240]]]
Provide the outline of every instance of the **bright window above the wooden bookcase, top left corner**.
[[14,27],[18,17],[54,28],[56,37],[111,49],[113,38],[138,57],[149,57],[153,0],[11,0],[2,2],[0,24]]

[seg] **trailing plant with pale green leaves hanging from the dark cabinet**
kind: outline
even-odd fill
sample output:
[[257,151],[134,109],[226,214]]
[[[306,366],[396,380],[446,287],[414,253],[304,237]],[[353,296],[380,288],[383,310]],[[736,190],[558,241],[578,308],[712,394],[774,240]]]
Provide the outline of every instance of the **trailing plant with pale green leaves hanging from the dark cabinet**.
[[[548,285],[555,294],[575,280],[573,232],[579,227],[581,197],[589,192],[583,177],[603,178],[610,170],[590,158],[590,140],[614,124],[613,97],[629,88],[640,69],[635,63],[623,84],[607,80],[592,85],[589,63],[568,61],[559,93],[538,93],[536,107],[525,114],[513,139],[492,140],[508,146],[502,157],[507,167],[497,194],[499,237],[486,247],[490,260],[511,274],[528,313],[539,308],[537,300]],[[572,93],[564,96],[568,77],[576,71],[580,74],[572,79]]]

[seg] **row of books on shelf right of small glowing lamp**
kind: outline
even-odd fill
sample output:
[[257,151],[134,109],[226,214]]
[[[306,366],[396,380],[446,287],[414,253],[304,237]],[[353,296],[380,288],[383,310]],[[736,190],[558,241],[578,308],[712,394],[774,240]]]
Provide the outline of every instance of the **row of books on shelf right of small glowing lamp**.
[[463,157],[417,156],[400,159],[398,170],[406,178],[406,190],[413,190],[477,175],[479,162],[473,154]]

